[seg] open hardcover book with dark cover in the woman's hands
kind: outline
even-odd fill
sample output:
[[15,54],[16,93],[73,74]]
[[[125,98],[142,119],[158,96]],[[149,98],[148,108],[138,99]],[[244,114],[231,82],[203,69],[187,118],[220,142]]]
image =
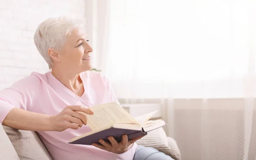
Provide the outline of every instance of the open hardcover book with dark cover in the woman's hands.
[[109,136],[113,136],[117,142],[121,142],[122,135],[128,135],[128,140],[147,135],[147,132],[160,128],[166,123],[162,120],[148,121],[157,111],[133,118],[125,109],[116,102],[100,104],[90,107],[93,115],[87,116],[87,125],[92,131],[70,140],[71,144],[91,145],[99,143],[99,139],[107,142]]

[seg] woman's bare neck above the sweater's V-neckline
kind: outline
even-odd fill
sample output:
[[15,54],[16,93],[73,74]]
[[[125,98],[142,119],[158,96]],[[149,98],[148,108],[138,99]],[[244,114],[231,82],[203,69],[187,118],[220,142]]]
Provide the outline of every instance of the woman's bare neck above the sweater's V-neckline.
[[70,70],[60,69],[57,67],[52,68],[52,75],[58,79],[69,90],[73,91],[77,95],[82,95],[83,82],[79,76],[80,73],[75,73]]

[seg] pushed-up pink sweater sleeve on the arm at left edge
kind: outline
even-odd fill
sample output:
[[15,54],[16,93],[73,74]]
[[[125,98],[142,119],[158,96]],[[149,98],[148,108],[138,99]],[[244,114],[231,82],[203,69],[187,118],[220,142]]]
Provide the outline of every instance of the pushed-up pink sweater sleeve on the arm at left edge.
[[30,75],[0,91],[0,122],[15,107],[30,110],[38,93],[39,78]]

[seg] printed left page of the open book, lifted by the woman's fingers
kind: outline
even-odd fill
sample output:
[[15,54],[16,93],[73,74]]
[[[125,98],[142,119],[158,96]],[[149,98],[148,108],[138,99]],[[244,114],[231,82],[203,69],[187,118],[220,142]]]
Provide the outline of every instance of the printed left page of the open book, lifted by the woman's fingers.
[[100,129],[114,123],[131,123],[138,124],[138,122],[119,104],[113,102],[108,104],[100,104],[90,107],[93,115],[87,116],[87,125],[92,129]]

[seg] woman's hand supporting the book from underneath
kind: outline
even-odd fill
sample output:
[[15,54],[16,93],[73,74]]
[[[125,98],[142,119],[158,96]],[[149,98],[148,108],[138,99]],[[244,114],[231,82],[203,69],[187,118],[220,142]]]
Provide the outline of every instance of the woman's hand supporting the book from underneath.
[[131,140],[128,140],[127,135],[122,135],[122,141],[120,143],[118,143],[115,138],[113,137],[108,137],[108,140],[111,143],[106,142],[105,140],[99,140],[99,143],[101,143],[102,145],[99,145],[97,143],[93,143],[93,146],[96,146],[100,149],[104,149],[108,152],[113,152],[116,154],[122,154],[126,151],[128,151],[131,147],[132,144],[136,141],[139,140],[140,138],[143,138],[145,135],[137,137],[137,138],[133,138]]

